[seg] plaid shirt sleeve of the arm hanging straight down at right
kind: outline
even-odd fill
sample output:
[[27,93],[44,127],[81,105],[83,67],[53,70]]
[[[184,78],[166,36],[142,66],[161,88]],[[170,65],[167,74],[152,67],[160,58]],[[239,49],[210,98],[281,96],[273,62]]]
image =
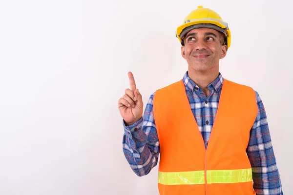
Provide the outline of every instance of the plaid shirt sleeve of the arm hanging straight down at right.
[[257,92],[255,95],[258,113],[251,128],[247,147],[247,155],[252,167],[253,189],[257,195],[283,195],[266,111]]

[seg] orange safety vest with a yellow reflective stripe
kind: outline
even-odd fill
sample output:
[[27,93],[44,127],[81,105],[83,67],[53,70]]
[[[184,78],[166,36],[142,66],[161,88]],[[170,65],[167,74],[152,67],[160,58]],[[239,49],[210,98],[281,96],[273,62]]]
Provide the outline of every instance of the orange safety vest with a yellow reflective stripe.
[[224,79],[207,149],[182,80],[157,90],[160,195],[255,195],[246,154],[257,115],[252,88]]

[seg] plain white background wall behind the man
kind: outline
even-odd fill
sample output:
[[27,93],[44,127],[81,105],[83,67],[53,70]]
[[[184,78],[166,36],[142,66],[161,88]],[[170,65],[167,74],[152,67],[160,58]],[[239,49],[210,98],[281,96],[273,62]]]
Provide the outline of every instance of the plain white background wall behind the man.
[[175,30],[198,5],[231,30],[223,77],[265,105],[283,191],[293,191],[290,0],[0,0],[0,195],[157,195],[122,150],[117,102],[132,71],[144,106],[183,78]]

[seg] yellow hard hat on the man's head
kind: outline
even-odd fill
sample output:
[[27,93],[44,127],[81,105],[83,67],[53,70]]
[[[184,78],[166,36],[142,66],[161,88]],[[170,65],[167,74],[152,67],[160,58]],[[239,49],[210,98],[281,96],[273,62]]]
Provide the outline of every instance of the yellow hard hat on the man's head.
[[183,37],[192,29],[195,28],[211,28],[225,35],[225,44],[230,47],[231,33],[228,23],[224,22],[219,14],[215,11],[198,6],[197,9],[190,12],[185,18],[182,25],[177,28],[176,37],[182,45],[184,45]]

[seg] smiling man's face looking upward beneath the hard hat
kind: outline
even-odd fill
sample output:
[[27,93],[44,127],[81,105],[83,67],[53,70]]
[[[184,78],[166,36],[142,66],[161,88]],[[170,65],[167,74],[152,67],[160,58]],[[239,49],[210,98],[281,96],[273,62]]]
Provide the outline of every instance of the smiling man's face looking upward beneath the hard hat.
[[227,54],[227,45],[221,44],[220,33],[213,29],[193,29],[184,40],[182,56],[195,71],[205,72],[219,66],[219,60]]

